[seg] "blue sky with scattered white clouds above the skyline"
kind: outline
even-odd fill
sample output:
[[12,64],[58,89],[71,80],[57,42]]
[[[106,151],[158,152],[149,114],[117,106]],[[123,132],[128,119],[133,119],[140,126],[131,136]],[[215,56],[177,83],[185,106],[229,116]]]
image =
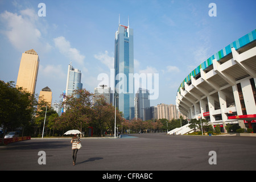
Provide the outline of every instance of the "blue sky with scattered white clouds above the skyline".
[[[46,16],[39,17],[39,3]],[[210,3],[217,16],[210,17]],[[36,93],[48,86],[52,102],[65,89],[68,64],[93,92],[100,73],[114,67],[120,23],[134,29],[136,73],[159,74],[157,104],[175,104],[184,78],[204,60],[256,28],[255,0],[0,0],[0,80],[15,81],[22,53],[35,49],[40,66]]]

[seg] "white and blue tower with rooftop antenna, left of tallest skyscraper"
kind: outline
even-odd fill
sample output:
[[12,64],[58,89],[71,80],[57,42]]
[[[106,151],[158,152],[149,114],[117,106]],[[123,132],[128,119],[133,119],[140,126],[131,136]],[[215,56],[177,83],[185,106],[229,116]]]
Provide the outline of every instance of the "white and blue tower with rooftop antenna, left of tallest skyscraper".
[[79,69],[73,68],[71,64],[68,65],[66,96],[70,96],[74,90],[82,89],[81,75],[82,73]]

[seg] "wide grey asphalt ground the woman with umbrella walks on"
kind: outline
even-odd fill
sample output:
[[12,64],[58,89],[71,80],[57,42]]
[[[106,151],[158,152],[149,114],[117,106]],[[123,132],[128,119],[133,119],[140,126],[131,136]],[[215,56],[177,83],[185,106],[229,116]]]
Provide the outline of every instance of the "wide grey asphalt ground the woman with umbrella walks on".
[[[83,138],[72,165],[71,139],[31,139],[0,146],[0,171],[246,171],[256,169],[256,137],[134,134]],[[39,164],[39,151],[46,164]],[[209,155],[216,152],[216,158]],[[209,164],[209,159],[216,164]],[[215,160],[216,159],[216,160]]]

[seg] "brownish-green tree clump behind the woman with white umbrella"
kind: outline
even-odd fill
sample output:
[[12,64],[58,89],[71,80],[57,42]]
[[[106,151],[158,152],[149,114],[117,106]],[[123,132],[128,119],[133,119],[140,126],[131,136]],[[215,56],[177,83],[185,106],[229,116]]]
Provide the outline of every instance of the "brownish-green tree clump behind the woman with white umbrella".
[[[103,137],[104,131],[114,131],[115,109],[112,105],[106,103],[103,96],[94,97],[86,89],[76,90],[71,96],[66,96],[63,102],[65,113],[56,119],[54,128],[59,130],[82,129],[88,126],[93,127],[93,133],[100,133]],[[117,110],[117,124],[121,123],[123,118]]]

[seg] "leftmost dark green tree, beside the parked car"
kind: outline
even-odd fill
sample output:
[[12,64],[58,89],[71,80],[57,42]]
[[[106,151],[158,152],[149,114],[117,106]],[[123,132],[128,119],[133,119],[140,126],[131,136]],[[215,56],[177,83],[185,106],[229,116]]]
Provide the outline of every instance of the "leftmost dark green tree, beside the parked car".
[[0,126],[4,131],[28,126],[36,104],[34,94],[16,88],[13,81],[5,83],[0,80]]

